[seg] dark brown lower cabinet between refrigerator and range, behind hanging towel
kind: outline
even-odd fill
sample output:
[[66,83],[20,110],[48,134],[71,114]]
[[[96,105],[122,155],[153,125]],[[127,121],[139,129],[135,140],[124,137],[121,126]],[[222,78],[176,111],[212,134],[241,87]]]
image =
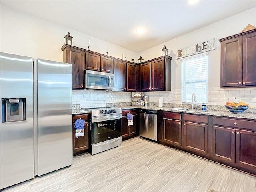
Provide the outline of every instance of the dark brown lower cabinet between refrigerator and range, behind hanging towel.
[[[76,119],[84,119],[84,136],[76,137],[75,133],[75,121]],[[77,155],[79,153],[85,152],[89,148],[89,122],[88,115],[75,115],[73,116],[73,155]]]

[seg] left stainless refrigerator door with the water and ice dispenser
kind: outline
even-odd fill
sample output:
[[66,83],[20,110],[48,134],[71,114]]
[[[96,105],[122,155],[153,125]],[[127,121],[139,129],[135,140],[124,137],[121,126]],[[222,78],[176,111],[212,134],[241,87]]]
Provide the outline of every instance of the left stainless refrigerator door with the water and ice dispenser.
[[[33,60],[0,53],[0,189],[34,177]],[[24,117],[8,121],[6,100],[24,100]],[[9,100],[10,99],[10,100]],[[21,104],[21,103],[20,103]],[[23,110],[23,108],[20,108]]]

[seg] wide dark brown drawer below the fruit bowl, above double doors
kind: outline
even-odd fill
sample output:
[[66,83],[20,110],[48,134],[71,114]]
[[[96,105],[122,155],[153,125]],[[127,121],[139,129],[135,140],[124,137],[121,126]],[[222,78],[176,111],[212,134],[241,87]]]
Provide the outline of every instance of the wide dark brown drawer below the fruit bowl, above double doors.
[[256,122],[248,121],[248,120],[238,120],[238,119],[228,119],[228,118],[212,118],[212,124],[221,125],[221,126],[229,126],[235,128],[244,128],[244,129],[252,129],[256,130]]

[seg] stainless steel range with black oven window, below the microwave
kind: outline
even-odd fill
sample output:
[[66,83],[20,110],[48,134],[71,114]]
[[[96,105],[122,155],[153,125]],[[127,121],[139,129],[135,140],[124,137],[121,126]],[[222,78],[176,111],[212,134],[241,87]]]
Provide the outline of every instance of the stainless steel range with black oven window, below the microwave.
[[90,140],[92,155],[121,145],[122,111],[117,108],[87,108],[91,114]]

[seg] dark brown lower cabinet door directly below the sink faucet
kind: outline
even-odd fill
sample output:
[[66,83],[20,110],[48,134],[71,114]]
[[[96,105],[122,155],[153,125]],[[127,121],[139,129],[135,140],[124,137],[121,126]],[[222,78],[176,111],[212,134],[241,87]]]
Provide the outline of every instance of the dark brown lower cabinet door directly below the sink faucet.
[[208,154],[208,125],[184,122],[183,148],[199,154]]

